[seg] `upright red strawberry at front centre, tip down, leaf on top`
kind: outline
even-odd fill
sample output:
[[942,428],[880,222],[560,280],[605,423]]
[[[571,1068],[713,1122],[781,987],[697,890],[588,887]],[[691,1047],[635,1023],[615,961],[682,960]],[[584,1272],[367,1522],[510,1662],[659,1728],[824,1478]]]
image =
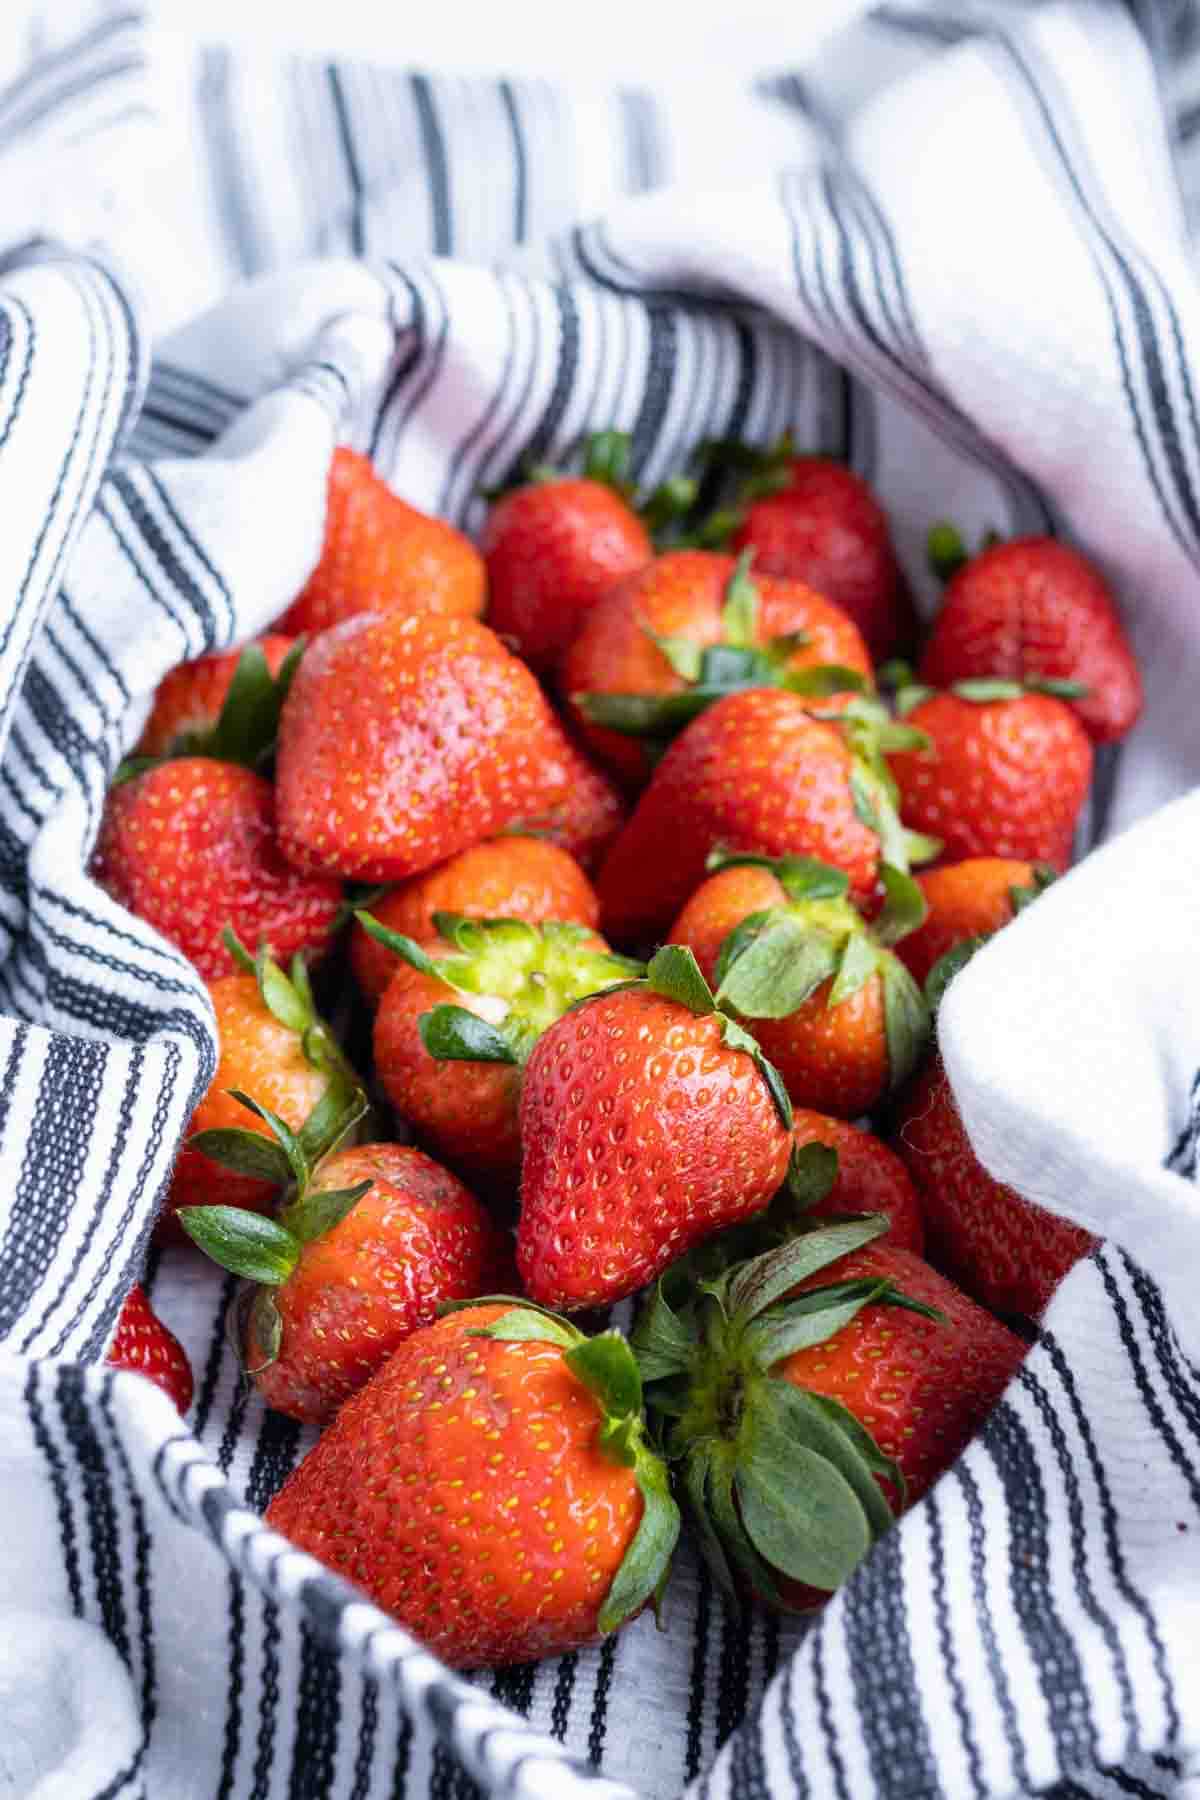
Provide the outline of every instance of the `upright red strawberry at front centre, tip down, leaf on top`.
[[687,950],[574,1008],[534,1046],[520,1105],[516,1267],[565,1310],[610,1305],[721,1226],[759,1211],[792,1109],[756,1042],[718,1012]]

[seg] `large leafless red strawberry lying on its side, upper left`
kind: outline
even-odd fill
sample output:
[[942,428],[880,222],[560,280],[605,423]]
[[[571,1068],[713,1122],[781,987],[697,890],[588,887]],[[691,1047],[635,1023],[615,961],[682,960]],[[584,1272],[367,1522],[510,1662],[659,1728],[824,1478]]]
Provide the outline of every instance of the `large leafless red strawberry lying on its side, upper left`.
[[561,727],[475,619],[360,614],[309,646],[279,722],[279,835],[299,868],[403,880],[556,805]]

